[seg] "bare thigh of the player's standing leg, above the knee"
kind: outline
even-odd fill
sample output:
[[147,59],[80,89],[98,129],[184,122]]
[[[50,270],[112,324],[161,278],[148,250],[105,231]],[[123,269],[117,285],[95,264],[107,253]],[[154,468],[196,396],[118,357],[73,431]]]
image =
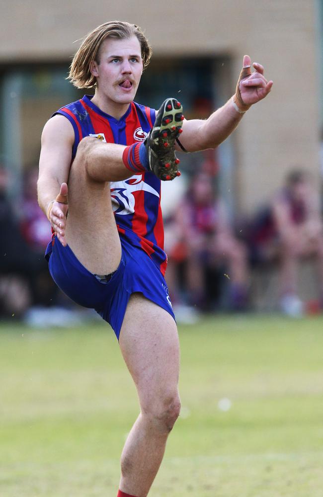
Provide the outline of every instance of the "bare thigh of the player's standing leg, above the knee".
[[132,294],[119,342],[142,409],[158,409],[159,402],[178,398],[179,342],[170,314],[142,294]]

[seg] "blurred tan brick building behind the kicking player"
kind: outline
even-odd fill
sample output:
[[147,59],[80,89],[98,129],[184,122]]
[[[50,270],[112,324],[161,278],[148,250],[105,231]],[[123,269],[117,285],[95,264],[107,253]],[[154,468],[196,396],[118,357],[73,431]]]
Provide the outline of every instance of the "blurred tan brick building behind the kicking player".
[[223,190],[233,192],[239,210],[251,211],[291,167],[319,174],[319,15],[314,0],[6,2],[0,17],[2,157],[17,170],[35,160],[45,120],[70,91],[58,90],[64,72],[49,85],[48,69],[66,71],[74,41],[96,25],[129,20],[145,28],[155,69],[167,60],[203,59],[217,105],[234,91],[245,53],[274,80],[270,96],[247,113],[220,151]]

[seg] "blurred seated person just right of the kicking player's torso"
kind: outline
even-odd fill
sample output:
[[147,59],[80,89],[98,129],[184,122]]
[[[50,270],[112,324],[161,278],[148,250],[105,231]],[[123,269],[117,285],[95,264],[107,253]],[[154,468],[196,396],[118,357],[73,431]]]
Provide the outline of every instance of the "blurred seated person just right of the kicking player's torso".
[[[198,172],[192,178],[172,225],[166,229],[166,251],[169,255],[166,278],[171,288],[178,288],[176,269],[179,263],[185,261],[185,283],[190,304],[201,309],[209,304],[207,273],[215,273],[224,266],[222,281],[224,278],[229,280],[229,306],[233,310],[245,309],[247,252],[234,236],[225,206],[215,194],[213,178],[205,172]],[[172,295],[175,303],[178,293]]]

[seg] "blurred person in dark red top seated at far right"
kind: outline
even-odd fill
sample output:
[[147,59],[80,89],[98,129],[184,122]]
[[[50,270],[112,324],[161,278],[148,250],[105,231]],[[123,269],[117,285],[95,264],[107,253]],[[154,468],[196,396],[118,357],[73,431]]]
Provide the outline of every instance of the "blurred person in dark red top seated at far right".
[[294,170],[286,178],[270,205],[257,216],[251,229],[253,259],[280,264],[280,308],[290,316],[301,316],[304,305],[298,296],[299,262],[312,257],[318,264],[320,299],[323,304],[323,224],[320,201],[313,178]]

